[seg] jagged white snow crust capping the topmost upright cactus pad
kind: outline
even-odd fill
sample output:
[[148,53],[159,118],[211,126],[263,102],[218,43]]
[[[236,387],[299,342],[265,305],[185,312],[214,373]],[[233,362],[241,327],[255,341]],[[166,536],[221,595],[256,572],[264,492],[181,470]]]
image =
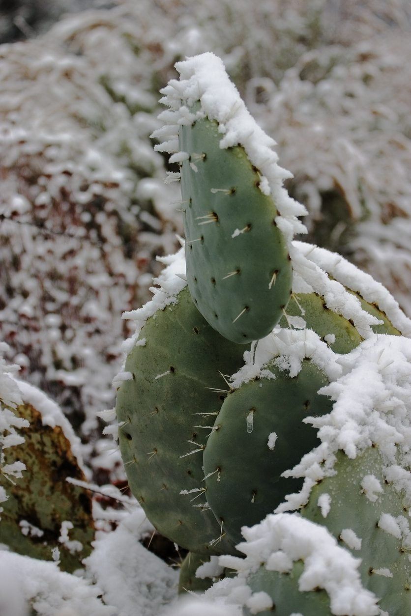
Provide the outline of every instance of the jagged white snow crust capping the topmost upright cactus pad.
[[[272,195],[279,213],[275,220],[287,241],[290,242],[295,233],[306,233],[306,227],[297,219],[307,213],[306,208],[291,198],[282,186],[283,180],[292,174],[277,164],[274,139],[262,131],[247,110],[222,60],[208,52],[177,62],[175,66],[180,79],[171,79],[161,90],[165,94],[161,102],[169,109],[158,116],[165,126],[152,134],[152,137],[163,139],[155,150],[170,153],[171,161],[184,160],[179,152],[181,126],[190,125],[199,118],[215,120],[221,133],[220,148],[241,145],[258,168],[260,190]],[[193,112],[195,103],[200,103],[200,108]]]

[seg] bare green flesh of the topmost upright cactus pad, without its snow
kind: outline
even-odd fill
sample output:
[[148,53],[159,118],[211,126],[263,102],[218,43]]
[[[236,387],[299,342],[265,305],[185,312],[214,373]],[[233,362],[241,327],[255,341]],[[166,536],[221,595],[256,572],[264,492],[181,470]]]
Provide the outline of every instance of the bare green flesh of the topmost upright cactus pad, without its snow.
[[183,126],[187,281],[203,317],[240,344],[269,334],[291,294],[291,262],[277,209],[240,147],[219,147],[218,124]]

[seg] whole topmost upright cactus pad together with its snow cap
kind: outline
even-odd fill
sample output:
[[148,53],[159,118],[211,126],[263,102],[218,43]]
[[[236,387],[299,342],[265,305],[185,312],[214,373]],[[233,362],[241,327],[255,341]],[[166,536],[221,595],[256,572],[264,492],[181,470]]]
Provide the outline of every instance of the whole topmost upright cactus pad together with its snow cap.
[[[203,54],[177,63],[155,131],[181,168],[187,281],[198,310],[240,344],[266,336],[291,294],[288,244],[304,232],[305,208],[282,187],[275,142],[258,127],[221,60]],[[177,99],[176,99],[177,96]],[[177,102],[176,102],[177,101]],[[188,113],[188,115],[187,115]]]

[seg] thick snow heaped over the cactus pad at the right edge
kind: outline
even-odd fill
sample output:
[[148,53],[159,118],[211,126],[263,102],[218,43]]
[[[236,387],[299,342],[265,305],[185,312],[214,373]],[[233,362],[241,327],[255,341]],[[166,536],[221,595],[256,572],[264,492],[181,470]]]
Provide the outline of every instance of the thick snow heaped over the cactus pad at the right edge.
[[277,512],[306,502],[313,482],[333,474],[338,450],[356,458],[372,444],[379,447],[386,472],[391,469],[394,485],[404,490],[410,502],[411,477],[395,471],[397,458],[407,468],[411,450],[410,362],[411,340],[402,336],[375,335],[349,354],[336,357],[341,376],[319,390],[335,401],[332,411],[304,419],[318,429],[321,444],[284,473],[303,477],[304,485],[299,495],[288,495]]

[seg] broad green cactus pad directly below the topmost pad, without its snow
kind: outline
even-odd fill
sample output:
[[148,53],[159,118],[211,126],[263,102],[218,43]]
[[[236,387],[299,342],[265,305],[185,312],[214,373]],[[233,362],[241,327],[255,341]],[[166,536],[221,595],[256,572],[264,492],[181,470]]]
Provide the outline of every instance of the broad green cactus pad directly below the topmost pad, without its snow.
[[221,373],[238,370],[244,347],[206,323],[187,288],[177,299],[149,318],[144,346],[126,360],[133,378],[118,391],[121,455],[132,493],[162,535],[198,554],[232,553],[206,505],[203,448],[224,400]]

